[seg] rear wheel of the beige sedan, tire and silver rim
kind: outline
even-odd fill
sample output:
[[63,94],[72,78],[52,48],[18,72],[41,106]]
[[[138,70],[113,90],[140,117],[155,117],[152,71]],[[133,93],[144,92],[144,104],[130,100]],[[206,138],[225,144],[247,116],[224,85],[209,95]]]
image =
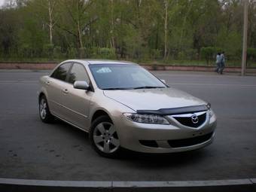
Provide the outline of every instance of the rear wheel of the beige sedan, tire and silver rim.
[[54,117],[50,114],[49,106],[46,97],[43,95],[39,99],[39,116],[44,123],[52,123]]

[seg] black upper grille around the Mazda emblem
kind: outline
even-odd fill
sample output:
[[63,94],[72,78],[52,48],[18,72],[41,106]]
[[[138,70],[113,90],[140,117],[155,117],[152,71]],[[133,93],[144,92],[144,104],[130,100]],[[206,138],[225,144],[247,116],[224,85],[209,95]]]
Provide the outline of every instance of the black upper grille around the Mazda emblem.
[[[195,113],[197,114],[197,113]],[[194,121],[192,120],[192,116],[194,114],[191,114],[187,117],[183,116],[183,115],[172,115],[173,118],[175,118],[175,120],[178,120],[179,123],[181,123],[184,126],[190,126],[190,127],[198,127],[201,126],[205,121],[206,121],[206,112],[203,112],[203,114],[199,114],[196,115],[198,118],[198,121]]]

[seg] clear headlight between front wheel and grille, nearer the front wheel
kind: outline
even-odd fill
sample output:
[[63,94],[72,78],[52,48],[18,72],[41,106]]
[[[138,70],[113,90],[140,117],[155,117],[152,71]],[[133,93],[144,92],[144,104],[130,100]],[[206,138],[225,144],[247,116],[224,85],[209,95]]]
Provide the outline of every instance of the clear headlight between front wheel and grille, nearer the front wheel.
[[123,114],[126,118],[133,120],[137,123],[151,123],[151,124],[165,124],[168,125],[169,122],[164,117],[157,114]]

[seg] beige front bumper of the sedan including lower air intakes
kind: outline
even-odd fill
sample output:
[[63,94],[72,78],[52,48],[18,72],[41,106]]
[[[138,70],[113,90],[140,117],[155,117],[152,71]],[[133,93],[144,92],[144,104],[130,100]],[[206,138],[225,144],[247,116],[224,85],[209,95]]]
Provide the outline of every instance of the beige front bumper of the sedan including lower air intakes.
[[120,146],[144,153],[172,153],[203,148],[212,143],[217,124],[215,115],[207,117],[198,128],[172,124],[136,123],[126,117],[115,117],[114,125]]

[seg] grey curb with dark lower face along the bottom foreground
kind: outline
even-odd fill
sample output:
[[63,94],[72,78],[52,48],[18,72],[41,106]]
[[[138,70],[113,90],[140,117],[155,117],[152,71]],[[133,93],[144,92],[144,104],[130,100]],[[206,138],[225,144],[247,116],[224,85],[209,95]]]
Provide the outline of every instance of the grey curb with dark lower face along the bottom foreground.
[[256,192],[256,178],[209,181],[50,181],[0,178],[0,191],[11,192]]

